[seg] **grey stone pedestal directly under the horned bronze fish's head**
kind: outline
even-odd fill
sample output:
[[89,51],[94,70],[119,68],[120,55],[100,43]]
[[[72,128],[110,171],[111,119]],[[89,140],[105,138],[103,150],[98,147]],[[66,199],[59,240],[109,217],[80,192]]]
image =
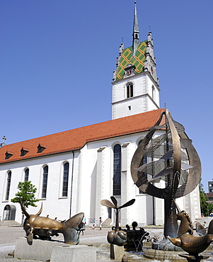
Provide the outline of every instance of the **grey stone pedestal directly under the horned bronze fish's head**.
[[18,237],[16,239],[16,247],[14,258],[21,258],[26,260],[50,260],[52,249],[55,246],[70,246],[59,241],[45,241],[40,239],[33,239],[33,244],[30,246],[25,237]]

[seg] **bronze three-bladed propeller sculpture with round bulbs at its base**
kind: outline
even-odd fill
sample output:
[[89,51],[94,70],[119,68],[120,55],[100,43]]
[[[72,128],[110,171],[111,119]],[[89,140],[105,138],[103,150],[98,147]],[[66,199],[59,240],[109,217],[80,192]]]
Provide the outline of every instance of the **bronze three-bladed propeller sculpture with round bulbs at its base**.
[[124,246],[125,243],[127,242],[127,232],[120,229],[119,222],[118,222],[118,215],[119,215],[121,208],[129,207],[129,205],[134,204],[135,199],[129,200],[124,205],[121,205],[120,207],[118,207],[116,198],[114,198],[113,196],[111,196],[110,198],[113,203],[111,203],[109,200],[100,201],[101,205],[105,205],[105,207],[111,207],[115,210],[115,217],[116,217],[115,229],[108,232],[108,242],[110,244],[115,244],[117,246]]

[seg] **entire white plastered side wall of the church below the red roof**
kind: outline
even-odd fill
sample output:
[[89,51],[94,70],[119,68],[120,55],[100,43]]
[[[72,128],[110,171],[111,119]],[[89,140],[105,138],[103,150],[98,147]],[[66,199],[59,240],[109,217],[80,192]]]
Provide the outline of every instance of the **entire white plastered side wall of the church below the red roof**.
[[[156,135],[160,134],[161,132],[156,132]],[[125,224],[132,224],[133,221],[137,221],[139,226],[152,224],[153,221],[155,224],[163,224],[163,200],[153,199],[150,195],[139,193],[139,188],[134,185],[130,172],[132,156],[139,141],[145,135],[146,132],[140,132],[89,142],[81,150],[74,152],[74,155],[73,152],[69,152],[1,165],[0,216],[3,216],[5,205],[16,205],[16,221],[21,222],[20,205],[11,203],[11,198],[15,197],[18,182],[23,181],[24,169],[28,167],[29,181],[32,181],[33,185],[38,188],[35,197],[40,199],[38,207],[28,208],[30,214],[38,212],[42,201],[44,205],[42,216],[49,215],[51,218],[58,217],[59,220],[65,220],[69,218],[70,214],[72,216],[78,212],[84,212],[88,223],[96,220],[96,224],[98,224],[100,216],[105,220],[109,215],[108,208],[100,205],[100,200],[110,200],[110,196],[113,195],[113,147],[115,144],[120,144],[122,149],[122,193],[115,198],[117,198],[119,205],[132,198],[136,199],[134,205],[121,210],[120,224],[125,226]],[[68,196],[62,197],[63,164],[65,161],[69,162],[69,190]],[[49,167],[47,197],[41,199],[42,167],[45,164]],[[6,201],[8,170],[12,172],[12,176],[9,200]],[[159,183],[156,186],[159,187]],[[199,197],[196,194],[188,196],[189,200],[185,200],[185,207],[195,213],[194,217],[199,217]],[[195,205],[196,208],[194,208]],[[113,212],[112,220],[115,224]]]

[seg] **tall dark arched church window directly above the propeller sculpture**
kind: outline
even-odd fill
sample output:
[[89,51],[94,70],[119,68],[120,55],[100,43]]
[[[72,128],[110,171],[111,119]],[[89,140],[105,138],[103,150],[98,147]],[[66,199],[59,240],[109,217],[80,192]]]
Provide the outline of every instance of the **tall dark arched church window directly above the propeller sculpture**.
[[120,195],[121,190],[121,147],[115,144],[113,161],[113,195]]

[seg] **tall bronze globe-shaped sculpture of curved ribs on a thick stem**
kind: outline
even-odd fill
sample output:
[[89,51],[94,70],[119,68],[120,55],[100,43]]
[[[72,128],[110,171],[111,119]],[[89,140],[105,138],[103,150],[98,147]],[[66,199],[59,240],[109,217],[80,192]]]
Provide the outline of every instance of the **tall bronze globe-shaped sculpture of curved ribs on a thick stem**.
[[[158,134],[159,131],[159,134]],[[137,148],[132,179],[142,192],[164,199],[164,236],[176,237],[178,223],[173,199],[192,192],[200,181],[200,158],[185,128],[165,110]],[[165,187],[157,183],[165,181]]]

